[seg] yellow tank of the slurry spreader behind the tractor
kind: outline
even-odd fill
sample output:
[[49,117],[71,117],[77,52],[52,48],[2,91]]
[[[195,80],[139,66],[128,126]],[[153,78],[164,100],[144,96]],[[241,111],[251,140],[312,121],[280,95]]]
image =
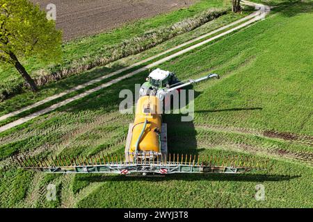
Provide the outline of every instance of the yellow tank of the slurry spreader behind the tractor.
[[[147,124],[145,126],[146,119]],[[159,152],[161,124],[162,120],[159,99],[156,96],[142,96],[138,99],[129,152],[133,153],[136,151],[136,144],[139,137],[141,137],[141,139],[138,144],[138,151]],[[141,136],[144,126],[145,130]]]

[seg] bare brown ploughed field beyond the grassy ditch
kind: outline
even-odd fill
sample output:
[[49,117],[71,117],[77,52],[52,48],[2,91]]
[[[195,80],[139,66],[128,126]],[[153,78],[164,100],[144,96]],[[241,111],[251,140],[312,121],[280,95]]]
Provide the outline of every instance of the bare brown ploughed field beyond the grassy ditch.
[[56,5],[56,26],[63,39],[92,35],[125,22],[152,17],[190,5],[196,0],[31,0],[45,9]]

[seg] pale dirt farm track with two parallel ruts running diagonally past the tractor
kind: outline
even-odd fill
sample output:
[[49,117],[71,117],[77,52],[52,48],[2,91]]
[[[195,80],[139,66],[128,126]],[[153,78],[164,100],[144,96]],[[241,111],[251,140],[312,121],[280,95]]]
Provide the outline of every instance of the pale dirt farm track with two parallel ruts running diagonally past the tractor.
[[[15,115],[17,115],[17,114],[19,114],[19,113],[21,113],[21,112],[24,112],[25,110],[29,110],[29,109],[31,109],[31,108],[37,107],[38,104],[39,104],[39,105],[42,105],[43,103],[46,103],[47,101],[51,101],[51,100],[53,100],[53,99],[57,99],[57,98],[59,98],[59,97],[61,97],[61,96],[64,96],[65,94],[70,93],[70,92],[77,91],[78,89],[84,88],[84,87],[86,87],[86,86],[88,86],[88,85],[92,85],[92,84],[97,83],[97,82],[99,82],[99,81],[101,81],[101,80],[103,80],[103,79],[109,78],[109,77],[111,77],[111,76],[115,76],[115,75],[117,75],[117,74],[122,73],[123,71],[127,71],[127,70],[131,69],[132,67],[136,67],[136,66],[138,66],[138,65],[144,64],[144,63],[147,62],[147,61],[153,60],[154,58],[158,58],[159,56],[162,56],[162,55],[164,55],[164,54],[166,54],[166,53],[168,53],[168,52],[170,52],[170,51],[174,51],[174,50],[176,50],[176,49],[182,48],[183,46],[186,46],[186,45],[191,44],[191,43],[193,43],[193,42],[198,42],[199,40],[202,40],[203,38],[208,37],[209,35],[213,35],[213,33],[217,33],[218,31],[223,31],[223,30],[226,29],[226,28],[229,28],[229,27],[232,27],[232,26],[234,26],[234,25],[236,25],[236,24],[239,24],[238,26],[235,26],[234,28],[231,28],[231,29],[229,29],[229,30],[227,30],[227,31],[225,31],[225,32],[223,32],[223,33],[220,33],[220,34],[218,34],[218,35],[215,35],[214,37],[211,37],[211,38],[209,38],[209,39],[207,39],[207,40],[203,40],[202,42],[199,42],[199,43],[197,43],[197,44],[193,44],[192,46],[188,46],[188,48],[182,49],[181,51],[178,51],[178,52],[176,52],[176,53],[173,53],[172,55],[167,56],[166,58],[161,58],[160,60],[157,60],[156,62],[152,62],[150,65],[146,65],[145,67],[141,67],[140,69],[137,69],[137,70],[135,70],[135,71],[131,71],[130,73],[125,74],[124,76],[120,76],[120,77],[118,77],[118,78],[115,78],[115,79],[109,81],[108,83],[104,83],[104,84],[99,85],[99,86],[97,86],[97,87],[95,87],[95,88],[93,88],[93,89],[89,89],[89,90],[87,90],[86,92],[83,92],[83,93],[81,93],[81,94],[78,94],[77,96],[73,96],[72,98],[65,99],[65,101],[61,101],[61,102],[59,102],[59,103],[56,103],[56,104],[54,104],[54,105],[49,106],[48,108],[45,108],[45,109],[43,109],[43,110],[34,112],[33,114],[29,114],[29,115],[26,116],[26,117],[22,117],[22,118],[20,118],[20,119],[17,119],[16,121],[13,121],[13,122],[8,123],[8,124],[6,124],[6,125],[4,125],[4,126],[1,126],[1,127],[0,127],[0,133],[2,133],[3,131],[8,130],[8,129],[10,129],[10,128],[13,128],[13,127],[15,127],[15,126],[19,126],[19,125],[21,125],[22,123],[25,123],[25,122],[27,122],[27,121],[30,121],[31,119],[34,119],[35,117],[38,117],[38,116],[40,116],[40,115],[42,115],[42,114],[46,114],[46,113],[48,113],[48,112],[51,112],[51,111],[53,111],[53,110],[56,110],[57,108],[60,108],[60,107],[62,107],[62,106],[64,106],[64,105],[67,105],[68,103],[71,103],[72,101],[76,101],[76,100],[78,100],[78,99],[82,99],[83,97],[88,96],[89,94],[92,94],[92,93],[94,93],[94,92],[97,92],[97,91],[99,91],[100,89],[104,89],[104,88],[106,88],[106,87],[109,87],[109,86],[111,86],[111,85],[113,85],[113,84],[115,84],[115,83],[120,82],[121,80],[124,80],[124,79],[129,78],[129,77],[131,77],[131,76],[134,76],[134,75],[136,75],[136,74],[138,74],[138,73],[141,73],[142,71],[145,71],[145,70],[147,70],[147,69],[150,69],[150,68],[152,68],[152,67],[155,67],[155,66],[157,66],[157,65],[160,65],[160,64],[162,64],[163,62],[167,62],[168,60],[171,60],[172,58],[176,58],[176,57],[178,57],[178,56],[182,56],[184,53],[187,53],[187,52],[189,52],[189,51],[192,51],[192,50],[194,50],[194,49],[197,49],[197,48],[199,48],[200,46],[203,46],[204,44],[207,44],[207,43],[209,43],[209,42],[212,42],[212,41],[218,39],[219,37],[223,37],[224,35],[227,35],[227,34],[229,34],[229,33],[232,33],[232,32],[234,32],[234,31],[239,30],[239,29],[241,29],[241,28],[243,28],[243,27],[245,27],[245,26],[248,26],[248,25],[250,25],[250,24],[253,24],[254,22],[257,22],[259,19],[262,19],[262,15],[265,16],[265,15],[269,12],[269,8],[266,8],[266,9],[267,9],[267,10],[265,10],[265,11],[264,11],[264,10],[259,10],[259,11],[257,11],[257,12],[253,12],[251,15],[248,15],[247,17],[244,17],[243,19],[239,19],[238,21],[233,22],[232,24],[229,24],[229,25],[227,25],[227,26],[223,26],[223,27],[221,27],[221,28],[218,28],[218,29],[216,29],[216,31],[213,31],[213,32],[211,32],[211,33],[207,33],[207,34],[205,34],[205,35],[202,35],[202,36],[196,38],[195,40],[188,41],[188,42],[186,42],[186,43],[184,43],[184,44],[181,44],[181,45],[176,46],[176,47],[174,47],[174,48],[172,48],[172,49],[169,49],[168,51],[164,51],[163,53],[159,53],[157,56],[153,56],[153,57],[147,58],[146,60],[143,60],[143,61],[141,61],[141,62],[137,62],[136,64],[131,65],[130,67],[125,67],[124,69],[120,69],[120,70],[115,71],[115,72],[113,72],[113,73],[111,73],[111,74],[109,74],[109,75],[102,76],[102,77],[100,77],[100,78],[98,78],[98,79],[91,80],[91,81],[88,82],[88,83],[85,83],[85,84],[83,84],[83,85],[79,85],[79,86],[77,86],[77,87],[74,87],[73,89],[67,90],[67,92],[63,92],[63,93],[61,93],[61,94],[57,94],[57,95],[55,95],[55,96],[51,96],[51,97],[45,99],[44,101],[40,101],[40,102],[35,103],[35,104],[33,104],[33,105],[30,105],[30,106],[28,106],[28,107],[26,107],[26,108],[22,108],[22,111],[21,111],[21,110],[17,110],[17,111],[15,111],[15,112],[10,113],[10,114],[6,114],[6,115],[0,117],[0,120],[7,119],[8,117],[13,117],[13,116],[15,116]],[[245,21],[246,19],[250,19],[250,20],[248,20],[248,22],[243,22],[243,21]],[[241,22],[243,22],[243,23],[241,23]]]

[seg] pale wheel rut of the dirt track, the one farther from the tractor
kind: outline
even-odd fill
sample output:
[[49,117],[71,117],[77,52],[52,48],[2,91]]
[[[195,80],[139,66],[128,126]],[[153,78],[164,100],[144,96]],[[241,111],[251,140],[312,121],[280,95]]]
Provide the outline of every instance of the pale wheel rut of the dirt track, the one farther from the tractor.
[[163,52],[161,52],[161,53],[158,53],[157,55],[154,55],[154,56],[151,56],[151,57],[149,57],[149,58],[146,58],[145,60],[141,60],[141,61],[139,61],[139,62],[136,62],[136,63],[134,63],[133,65],[129,65],[128,67],[125,67],[125,68],[122,68],[122,69],[118,69],[117,71],[113,71],[113,72],[111,72],[111,73],[108,74],[108,75],[101,76],[101,77],[99,77],[99,78],[95,78],[95,79],[93,79],[93,80],[88,81],[87,83],[83,83],[83,84],[81,84],[81,85],[77,85],[76,87],[72,87],[72,89],[67,89],[67,90],[65,90],[64,92],[55,94],[55,95],[53,95],[53,96],[49,96],[49,97],[47,97],[46,99],[43,99],[42,101],[38,101],[38,102],[33,103],[33,104],[31,104],[31,105],[27,105],[26,107],[21,108],[21,109],[19,109],[19,110],[15,110],[15,111],[13,111],[13,112],[9,112],[8,114],[3,114],[3,116],[0,117],[0,121],[4,121],[4,120],[6,120],[6,119],[8,119],[8,118],[10,118],[10,117],[15,117],[17,114],[20,114],[20,113],[25,112],[25,111],[27,111],[27,110],[31,110],[32,108],[36,108],[36,107],[38,107],[38,106],[40,106],[40,105],[43,105],[43,104],[45,104],[45,103],[48,103],[49,101],[53,101],[54,99],[58,99],[58,98],[60,98],[60,97],[62,97],[62,96],[65,96],[65,95],[67,95],[67,94],[70,94],[70,93],[72,93],[72,92],[77,92],[79,89],[83,89],[83,88],[88,87],[88,86],[90,86],[90,85],[93,85],[93,84],[95,84],[95,83],[99,83],[100,81],[102,81],[102,80],[104,80],[104,79],[106,79],[106,78],[110,78],[110,77],[112,77],[112,76],[116,76],[116,75],[118,75],[118,74],[121,74],[123,71],[127,71],[127,70],[129,70],[129,69],[133,69],[133,68],[135,68],[135,67],[138,67],[139,65],[143,65],[143,64],[145,64],[146,62],[149,62],[149,61],[151,61],[151,60],[154,60],[154,59],[156,59],[156,58],[159,58],[160,56],[163,56],[163,55],[165,55],[165,54],[167,54],[167,53],[170,53],[170,52],[175,51],[175,50],[177,50],[177,49],[181,49],[182,47],[187,46],[188,44],[193,44],[194,42],[198,42],[198,41],[200,41],[200,40],[202,40],[202,39],[204,39],[204,38],[206,38],[206,37],[208,37],[208,36],[210,36],[210,35],[214,35],[215,33],[218,33],[218,32],[220,32],[220,31],[223,31],[223,30],[225,30],[226,28],[230,28],[230,27],[232,27],[232,26],[234,26],[234,25],[236,25],[236,24],[239,24],[239,23],[244,22],[244,21],[246,21],[246,20],[248,20],[248,19],[251,19],[252,17],[257,16],[258,13],[259,13],[258,11],[257,11],[257,12],[253,12],[252,14],[250,14],[250,15],[248,15],[248,16],[246,16],[246,17],[243,17],[243,18],[241,18],[241,19],[239,19],[239,20],[237,20],[237,21],[235,21],[235,22],[232,22],[232,23],[230,23],[230,24],[227,24],[226,26],[222,26],[222,27],[220,27],[220,28],[217,28],[217,29],[214,30],[214,31],[211,31],[211,32],[209,32],[209,33],[206,33],[206,34],[204,34],[204,35],[201,35],[200,37],[196,37],[196,38],[193,39],[193,40],[189,40],[189,41],[187,41],[187,42],[184,42],[183,44],[179,44],[178,46],[175,46],[175,47],[173,47],[173,48],[171,48],[171,49],[168,49],[168,50],[166,50],[166,51],[163,51]]

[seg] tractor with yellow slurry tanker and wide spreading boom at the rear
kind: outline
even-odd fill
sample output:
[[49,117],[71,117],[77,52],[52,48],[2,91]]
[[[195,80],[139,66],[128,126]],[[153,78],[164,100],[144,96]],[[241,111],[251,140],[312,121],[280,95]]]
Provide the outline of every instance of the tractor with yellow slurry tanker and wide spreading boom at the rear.
[[[167,126],[162,123],[160,104],[167,94],[187,85],[210,78],[209,74],[196,80],[179,81],[170,71],[155,69],[140,89],[134,123],[129,124],[125,155],[95,155],[93,157],[58,156],[38,160],[16,157],[20,166],[47,173],[118,173],[154,175],[170,173],[243,173],[248,167],[233,157],[224,160],[191,154],[169,154]],[[227,161],[226,161],[227,162]],[[226,166],[225,166],[226,165]],[[236,167],[235,167],[236,166]]]

